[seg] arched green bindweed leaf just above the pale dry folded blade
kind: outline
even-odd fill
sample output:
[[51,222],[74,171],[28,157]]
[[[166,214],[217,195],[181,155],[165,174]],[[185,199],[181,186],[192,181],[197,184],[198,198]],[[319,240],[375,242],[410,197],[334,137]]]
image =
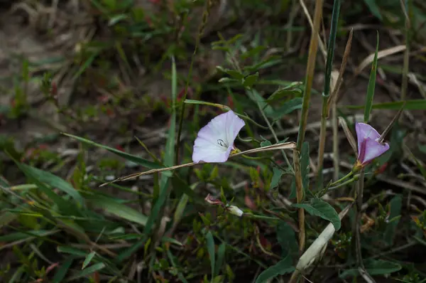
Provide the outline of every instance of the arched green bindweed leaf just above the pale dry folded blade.
[[310,203],[293,203],[295,208],[305,208],[310,215],[320,216],[320,218],[329,220],[333,223],[334,229],[339,230],[341,223],[336,210],[320,198],[311,198]]

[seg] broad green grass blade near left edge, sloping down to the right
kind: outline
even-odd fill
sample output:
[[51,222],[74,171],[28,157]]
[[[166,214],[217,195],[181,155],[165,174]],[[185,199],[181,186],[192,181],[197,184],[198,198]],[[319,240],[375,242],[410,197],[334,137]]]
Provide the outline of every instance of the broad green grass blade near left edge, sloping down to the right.
[[84,205],[84,199],[82,198],[80,193],[74,187],[72,187],[70,183],[63,180],[62,178],[53,175],[53,173],[37,169],[26,164],[19,164],[19,167],[21,169],[24,169],[28,173],[31,173],[31,175],[34,176],[34,178],[37,178],[38,181],[42,183],[47,183],[53,188],[60,189],[60,191],[63,191],[64,193],[67,193],[72,198],[74,198],[75,201],[80,203],[80,205]]

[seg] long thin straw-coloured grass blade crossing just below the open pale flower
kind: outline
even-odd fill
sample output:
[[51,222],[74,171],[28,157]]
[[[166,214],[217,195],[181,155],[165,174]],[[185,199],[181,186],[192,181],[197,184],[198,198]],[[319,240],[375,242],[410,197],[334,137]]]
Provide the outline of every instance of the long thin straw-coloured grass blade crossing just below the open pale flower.
[[[254,154],[254,153],[262,152],[262,151],[271,151],[271,150],[278,150],[278,149],[295,149],[295,147],[296,147],[295,142],[284,142],[283,144],[273,144],[271,146],[263,146],[263,147],[259,147],[257,149],[249,149],[249,150],[246,150],[246,151],[241,151],[237,154],[230,155],[229,158],[235,157],[235,156],[240,156],[240,155],[243,155],[243,154]],[[128,176],[116,178],[115,180],[113,180],[111,182],[102,183],[101,187],[107,186],[109,183],[116,183],[116,182],[119,182],[119,181],[131,180],[133,178],[138,178],[138,177],[143,176],[143,175],[149,175],[149,174],[152,174],[152,173],[158,173],[158,172],[164,172],[164,171],[172,171],[172,170],[175,170],[175,169],[190,167],[190,166],[194,166],[194,165],[197,165],[197,164],[203,164],[203,163],[204,162],[199,162],[199,163],[190,162],[190,163],[187,163],[187,164],[180,164],[180,165],[175,165],[175,166],[166,167],[166,168],[151,169],[151,170],[144,171],[144,172],[133,173],[133,174],[128,175]]]

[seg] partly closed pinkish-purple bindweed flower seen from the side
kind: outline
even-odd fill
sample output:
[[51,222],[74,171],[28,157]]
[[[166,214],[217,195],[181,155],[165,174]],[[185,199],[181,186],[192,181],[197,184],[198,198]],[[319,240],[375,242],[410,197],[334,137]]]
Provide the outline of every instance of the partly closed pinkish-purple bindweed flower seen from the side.
[[380,134],[369,124],[356,123],[355,129],[358,139],[357,164],[359,166],[366,166],[371,160],[388,151],[389,144],[380,142]]

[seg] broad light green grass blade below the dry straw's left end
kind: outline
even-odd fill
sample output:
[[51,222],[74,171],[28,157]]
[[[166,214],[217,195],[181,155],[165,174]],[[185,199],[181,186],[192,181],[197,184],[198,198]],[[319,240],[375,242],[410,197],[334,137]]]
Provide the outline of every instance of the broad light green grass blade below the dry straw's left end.
[[123,218],[141,225],[146,225],[147,223],[146,215],[138,212],[138,210],[129,208],[129,206],[118,203],[113,198],[107,198],[106,196],[100,195],[87,195],[86,198],[87,201],[92,203],[92,205],[95,207],[104,209],[108,213],[114,214],[119,218]]

